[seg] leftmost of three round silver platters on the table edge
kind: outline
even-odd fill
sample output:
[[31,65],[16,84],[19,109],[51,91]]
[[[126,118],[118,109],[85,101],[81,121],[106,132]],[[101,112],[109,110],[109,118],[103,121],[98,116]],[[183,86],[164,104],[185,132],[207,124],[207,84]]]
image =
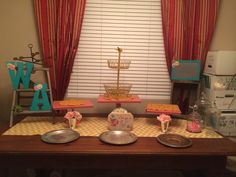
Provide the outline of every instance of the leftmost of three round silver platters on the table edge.
[[47,132],[41,136],[42,141],[46,143],[68,143],[80,137],[80,134],[72,129],[61,129]]

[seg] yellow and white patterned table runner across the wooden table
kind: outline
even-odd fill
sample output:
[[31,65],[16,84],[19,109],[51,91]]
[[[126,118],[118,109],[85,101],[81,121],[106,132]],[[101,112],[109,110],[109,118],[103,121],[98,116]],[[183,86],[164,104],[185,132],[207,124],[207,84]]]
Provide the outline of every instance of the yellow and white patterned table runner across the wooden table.
[[[65,119],[64,119],[65,120]],[[37,135],[48,131],[68,128],[68,124],[59,118],[55,124],[52,117],[26,117],[21,122],[8,129],[3,135]],[[108,131],[108,121],[102,117],[84,117],[76,127],[81,136],[99,136]],[[160,123],[156,118],[135,118],[133,133],[138,137],[156,137],[160,135]],[[168,133],[179,134],[188,138],[222,138],[221,135],[210,129],[203,129],[201,133],[190,133],[186,131],[186,120],[172,119]]]

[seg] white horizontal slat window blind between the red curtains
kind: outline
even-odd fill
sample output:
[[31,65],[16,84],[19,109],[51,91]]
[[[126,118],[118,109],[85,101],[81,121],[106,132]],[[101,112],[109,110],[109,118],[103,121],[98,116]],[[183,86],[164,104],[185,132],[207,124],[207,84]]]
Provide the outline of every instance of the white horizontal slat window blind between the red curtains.
[[160,0],[87,0],[68,97],[96,98],[104,83],[116,83],[108,59],[131,60],[120,82],[142,99],[170,99]]

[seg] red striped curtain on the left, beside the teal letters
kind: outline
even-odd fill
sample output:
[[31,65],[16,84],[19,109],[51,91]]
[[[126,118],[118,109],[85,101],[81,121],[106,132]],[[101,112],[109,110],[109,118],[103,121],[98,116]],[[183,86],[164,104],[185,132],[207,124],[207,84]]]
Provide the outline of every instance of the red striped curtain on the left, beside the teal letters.
[[64,98],[79,44],[86,0],[34,0],[45,67],[54,100]]

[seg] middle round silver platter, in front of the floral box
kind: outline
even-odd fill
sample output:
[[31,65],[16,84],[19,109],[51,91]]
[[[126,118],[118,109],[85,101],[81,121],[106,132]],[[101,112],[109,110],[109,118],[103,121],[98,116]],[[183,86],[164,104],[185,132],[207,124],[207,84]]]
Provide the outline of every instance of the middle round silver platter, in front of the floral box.
[[113,145],[126,145],[134,143],[137,140],[137,136],[129,131],[114,130],[103,132],[99,139]]

